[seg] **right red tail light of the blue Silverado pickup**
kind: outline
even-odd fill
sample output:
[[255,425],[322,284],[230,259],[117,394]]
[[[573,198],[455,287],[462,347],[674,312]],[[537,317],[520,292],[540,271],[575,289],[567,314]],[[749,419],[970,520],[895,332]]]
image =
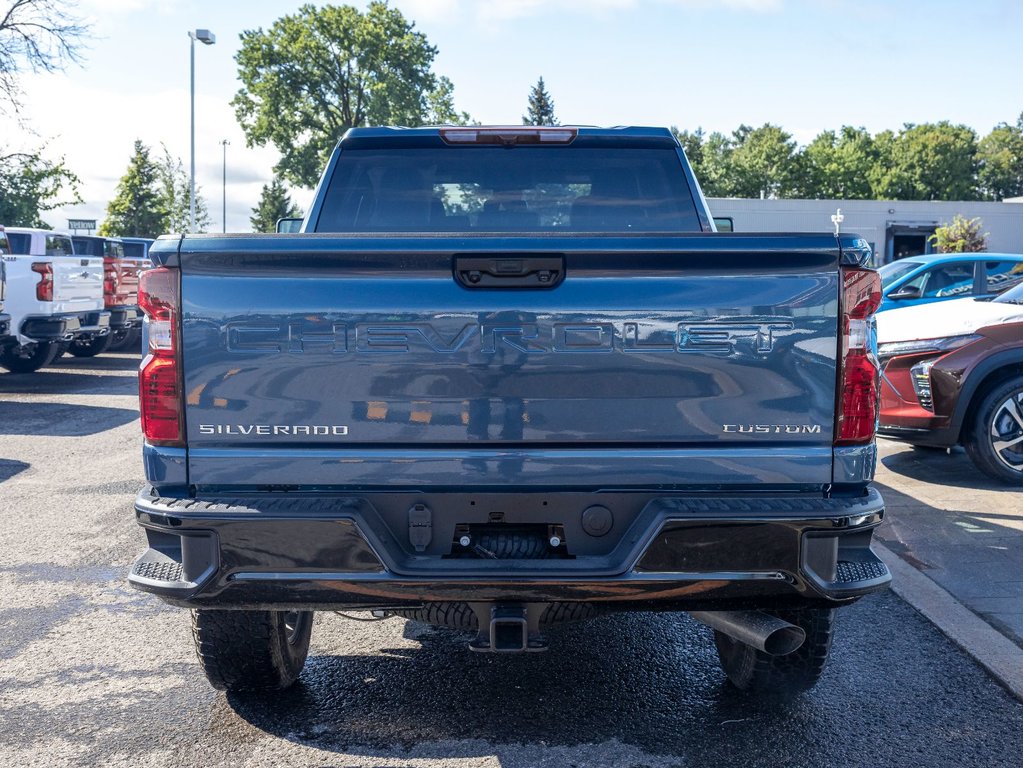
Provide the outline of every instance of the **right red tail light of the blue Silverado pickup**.
[[872,315],[880,305],[880,275],[873,269],[842,267],[835,445],[870,443],[878,428],[880,367]]

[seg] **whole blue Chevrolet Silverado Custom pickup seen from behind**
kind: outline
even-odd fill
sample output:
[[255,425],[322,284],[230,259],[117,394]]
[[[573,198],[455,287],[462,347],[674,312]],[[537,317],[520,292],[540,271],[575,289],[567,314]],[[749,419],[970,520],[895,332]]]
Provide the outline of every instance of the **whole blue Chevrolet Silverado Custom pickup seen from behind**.
[[890,581],[869,247],[714,232],[666,130],[354,129],[301,233],[149,253],[129,578],[218,688],[293,683],[314,611],[687,611],[791,694]]

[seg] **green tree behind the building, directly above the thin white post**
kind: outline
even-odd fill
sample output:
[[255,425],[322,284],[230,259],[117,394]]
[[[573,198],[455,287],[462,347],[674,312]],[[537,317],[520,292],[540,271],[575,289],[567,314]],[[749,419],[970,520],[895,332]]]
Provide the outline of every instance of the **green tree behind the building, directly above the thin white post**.
[[871,170],[878,162],[874,139],[865,128],[843,126],[824,131],[803,149],[805,173],[799,196],[815,199],[869,199]]

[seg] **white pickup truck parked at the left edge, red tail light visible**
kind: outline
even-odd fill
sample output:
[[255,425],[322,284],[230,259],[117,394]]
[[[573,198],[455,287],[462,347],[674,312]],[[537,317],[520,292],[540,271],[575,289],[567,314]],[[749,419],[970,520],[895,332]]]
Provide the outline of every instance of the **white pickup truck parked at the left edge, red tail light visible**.
[[14,343],[0,350],[0,366],[28,373],[49,365],[76,340],[110,332],[103,309],[102,258],[76,256],[70,235],[7,227],[5,312]]

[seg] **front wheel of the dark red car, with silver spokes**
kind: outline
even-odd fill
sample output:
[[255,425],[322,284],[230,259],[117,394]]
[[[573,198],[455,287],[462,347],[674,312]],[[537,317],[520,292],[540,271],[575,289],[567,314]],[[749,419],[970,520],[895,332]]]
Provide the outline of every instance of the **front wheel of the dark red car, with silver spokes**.
[[968,425],[966,451],[984,475],[1023,485],[1023,376],[988,392]]

